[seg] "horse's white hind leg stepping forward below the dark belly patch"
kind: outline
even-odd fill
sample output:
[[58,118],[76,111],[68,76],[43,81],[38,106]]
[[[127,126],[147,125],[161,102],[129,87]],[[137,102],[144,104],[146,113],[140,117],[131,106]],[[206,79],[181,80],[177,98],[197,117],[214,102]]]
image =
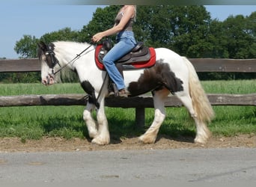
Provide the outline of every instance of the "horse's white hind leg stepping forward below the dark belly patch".
[[153,144],[156,141],[157,133],[162,125],[163,120],[165,120],[165,98],[170,93],[167,89],[161,91],[156,91],[153,95],[153,105],[155,108],[155,116],[153,123],[144,135],[139,137],[139,141],[144,144]]

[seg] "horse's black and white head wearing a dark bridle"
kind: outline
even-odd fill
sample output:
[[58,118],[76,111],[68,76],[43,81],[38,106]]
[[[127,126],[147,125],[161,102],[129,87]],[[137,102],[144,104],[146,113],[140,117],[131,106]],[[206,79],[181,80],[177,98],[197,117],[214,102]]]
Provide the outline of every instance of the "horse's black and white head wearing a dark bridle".
[[58,64],[57,58],[55,58],[54,44],[51,43],[48,46],[40,42],[38,46],[38,58],[41,64],[41,79],[43,85],[54,84],[54,67]]

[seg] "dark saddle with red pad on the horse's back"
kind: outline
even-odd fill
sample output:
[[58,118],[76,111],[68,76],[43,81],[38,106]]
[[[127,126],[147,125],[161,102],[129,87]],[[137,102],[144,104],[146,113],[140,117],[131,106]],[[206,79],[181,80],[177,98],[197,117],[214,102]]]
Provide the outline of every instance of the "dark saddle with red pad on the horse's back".
[[[96,46],[95,62],[100,70],[105,70],[103,58],[110,49],[112,49],[112,44],[109,40],[105,40],[103,44]],[[156,52],[155,49],[144,46],[143,42],[138,42],[131,52],[124,55],[115,64],[119,71],[152,67],[156,64]]]

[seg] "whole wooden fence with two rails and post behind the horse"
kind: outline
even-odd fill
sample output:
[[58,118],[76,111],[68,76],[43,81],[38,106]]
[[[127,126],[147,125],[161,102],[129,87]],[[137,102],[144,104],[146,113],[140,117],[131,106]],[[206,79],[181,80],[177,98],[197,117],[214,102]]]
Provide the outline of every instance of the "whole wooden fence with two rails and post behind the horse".
[[[242,72],[256,73],[256,59],[213,59],[190,58],[197,72]],[[0,60],[0,73],[38,72],[40,63],[37,58]],[[249,94],[207,94],[212,105],[255,105],[256,93]],[[23,96],[0,96],[0,107],[30,105],[86,105],[85,94],[46,94]],[[150,96],[132,98],[106,98],[106,106],[135,108],[137,126],[144,126],[144,108],[153,108]],[[165,100],[167,107],[180,107],[175,96]]]

